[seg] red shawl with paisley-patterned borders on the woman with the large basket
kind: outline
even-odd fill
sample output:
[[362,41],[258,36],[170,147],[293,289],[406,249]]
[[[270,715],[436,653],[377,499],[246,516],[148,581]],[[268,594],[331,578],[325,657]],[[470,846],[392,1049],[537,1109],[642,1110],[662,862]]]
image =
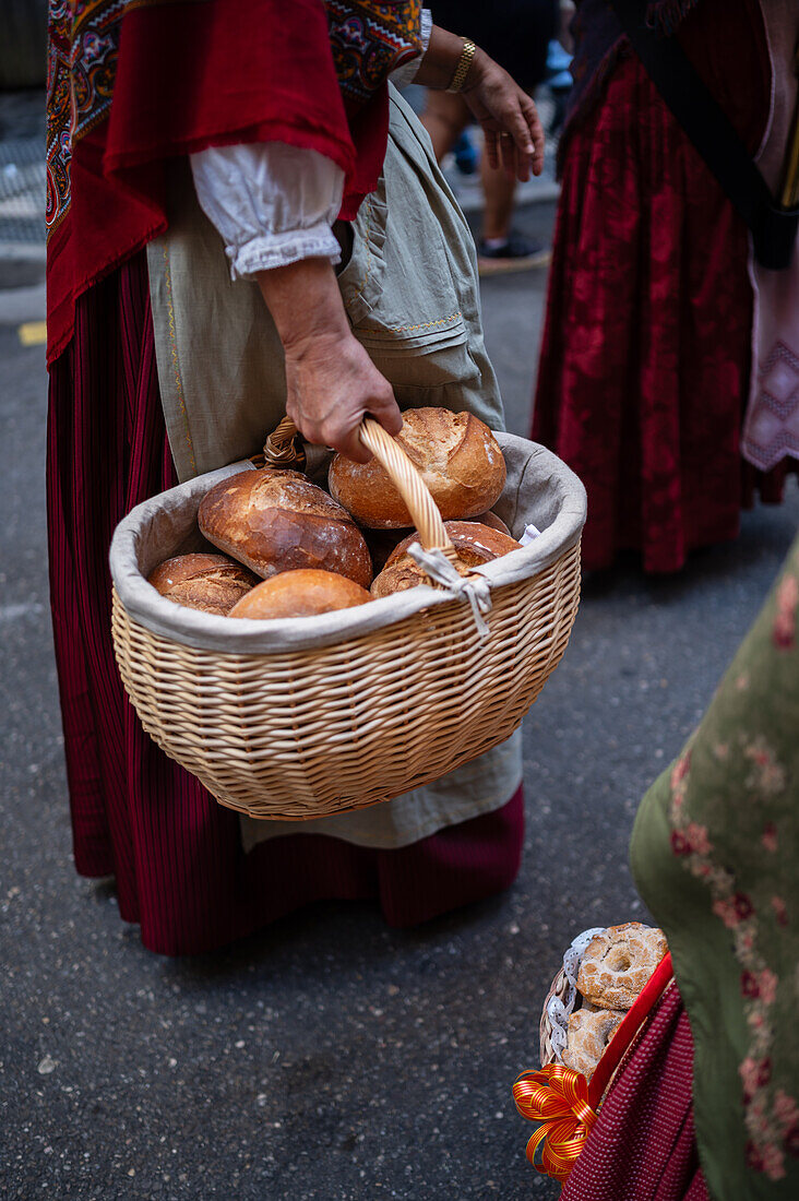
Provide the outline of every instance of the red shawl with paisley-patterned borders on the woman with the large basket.
[[345,171],[341,215],[354,216],[421,13],[421,0],[49,0],[48,362],[74,298],[166,228],[168,157],[308,147]]

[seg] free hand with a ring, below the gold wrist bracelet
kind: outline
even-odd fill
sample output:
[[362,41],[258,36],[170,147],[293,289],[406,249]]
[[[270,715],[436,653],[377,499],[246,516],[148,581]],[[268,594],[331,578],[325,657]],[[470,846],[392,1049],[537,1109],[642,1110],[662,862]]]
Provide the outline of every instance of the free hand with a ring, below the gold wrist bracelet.
[[532,100],[499,62],[477,50],[461,96],[485,137],[488,161],[509,179],[539,175],[544,165],[544,131]]

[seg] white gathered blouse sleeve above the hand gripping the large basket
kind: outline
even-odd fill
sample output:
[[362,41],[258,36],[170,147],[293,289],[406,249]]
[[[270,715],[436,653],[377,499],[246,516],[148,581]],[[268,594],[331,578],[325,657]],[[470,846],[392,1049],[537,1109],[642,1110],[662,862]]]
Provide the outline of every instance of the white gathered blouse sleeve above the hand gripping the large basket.
[[344,172],[330,159],[285,142],[257,142],[192,154],[191,171],[201,208],[225,241],[233,279],[300,258],[340,261],[332,226]]

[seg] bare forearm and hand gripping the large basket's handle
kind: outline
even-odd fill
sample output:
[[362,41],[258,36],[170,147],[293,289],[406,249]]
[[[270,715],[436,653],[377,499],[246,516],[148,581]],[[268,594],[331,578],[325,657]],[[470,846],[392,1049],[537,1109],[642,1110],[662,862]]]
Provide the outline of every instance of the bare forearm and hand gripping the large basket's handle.
[[389,434],[403,429],[394,393],[353,336],[335,271],[323,258],[258,271],[286,354],[286,412],[309,442],[356,462],[371,453],[358,437],[365,413]]

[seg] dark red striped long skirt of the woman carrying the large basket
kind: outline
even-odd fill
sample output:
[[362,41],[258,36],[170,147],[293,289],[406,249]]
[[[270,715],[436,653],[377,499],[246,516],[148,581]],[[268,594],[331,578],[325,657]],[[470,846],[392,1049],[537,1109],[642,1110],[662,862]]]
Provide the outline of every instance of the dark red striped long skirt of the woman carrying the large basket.
[[287,835],[245,855],[237,814],[144,734],[114,663],[108,573],[117,522],[177,483],[143,253],[78,301],[74,339],[50,371],[47,478],[74,862],[83,876],[115,876],[120,914],[141,924],[145,946],[208,951],[333,898],[377,900],[390,925],[411,926],[513,882],[521,789],[399,850]]

